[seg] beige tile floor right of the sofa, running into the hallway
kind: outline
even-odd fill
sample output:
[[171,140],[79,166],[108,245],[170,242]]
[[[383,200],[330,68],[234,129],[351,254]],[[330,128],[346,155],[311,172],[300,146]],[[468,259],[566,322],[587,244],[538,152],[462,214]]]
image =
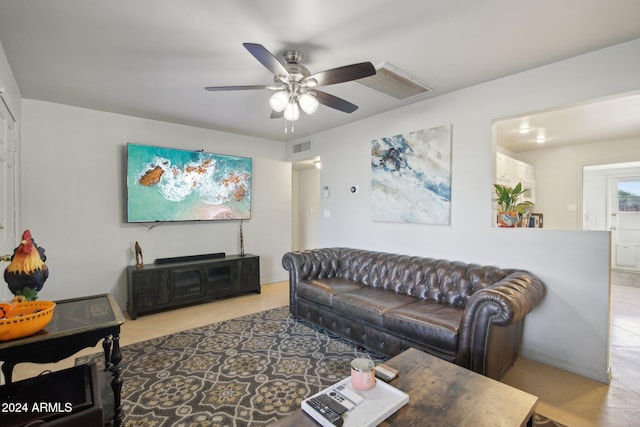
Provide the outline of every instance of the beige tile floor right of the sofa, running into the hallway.
[[538,412],[576,427],[640,425],[640,288],[611,289],[609,385],[525,358],[501,381],[540,398]]

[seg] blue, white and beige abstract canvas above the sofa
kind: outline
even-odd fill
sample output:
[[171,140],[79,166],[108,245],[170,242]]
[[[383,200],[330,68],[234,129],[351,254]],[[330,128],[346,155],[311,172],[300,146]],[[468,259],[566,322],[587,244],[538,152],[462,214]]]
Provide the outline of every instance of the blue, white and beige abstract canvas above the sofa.
[[372,219],[451,223],[451,125],[371,141]]

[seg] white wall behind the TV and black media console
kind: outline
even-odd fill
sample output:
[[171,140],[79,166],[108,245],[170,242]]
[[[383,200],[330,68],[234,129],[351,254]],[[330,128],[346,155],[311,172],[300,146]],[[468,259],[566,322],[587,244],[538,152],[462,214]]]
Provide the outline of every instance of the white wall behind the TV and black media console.
[[[126,307],[125,267],[156,258],[239,253],[239,222],[188,222],[148,228],[124,223],[126,144],[135,142],[253,158],[247,253],[260,256],[262,283],[286,280],[291,245],[291,164],[282,142],[24,100],[22,226],[47,251],[43,299],[112,292]],[[278,189],[278,191],[274,191]]]

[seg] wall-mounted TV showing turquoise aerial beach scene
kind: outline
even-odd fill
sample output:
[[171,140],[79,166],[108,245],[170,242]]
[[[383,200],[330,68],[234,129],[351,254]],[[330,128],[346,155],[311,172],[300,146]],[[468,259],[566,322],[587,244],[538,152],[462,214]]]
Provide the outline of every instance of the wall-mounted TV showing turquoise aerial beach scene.
[[249,219],[248,157],[128,144],[127,221]]

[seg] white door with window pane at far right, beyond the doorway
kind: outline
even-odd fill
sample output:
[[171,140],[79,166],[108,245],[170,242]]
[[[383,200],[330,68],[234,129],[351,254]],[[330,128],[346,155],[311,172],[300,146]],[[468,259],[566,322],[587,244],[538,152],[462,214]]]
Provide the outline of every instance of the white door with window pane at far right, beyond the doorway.
[[640,271],[640,176],[609,180],[613,268]]

